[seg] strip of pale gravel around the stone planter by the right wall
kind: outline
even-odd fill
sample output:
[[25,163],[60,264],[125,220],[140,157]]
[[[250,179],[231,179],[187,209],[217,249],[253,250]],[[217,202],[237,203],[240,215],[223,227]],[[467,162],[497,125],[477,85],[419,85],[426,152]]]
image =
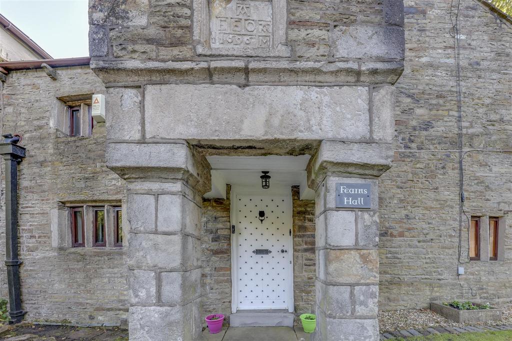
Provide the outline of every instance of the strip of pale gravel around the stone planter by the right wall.
[[[503,310],[503,319],[499,322],[488,321],[484,326],[512,325],[512,306],[500,307]],[[461,327],[464,324],[445,319],[428,309],[408,309],[396,311],[381,311],[378,313],[380,332],[426,329],[431,327]],[[475,324],[473,324],[475,325]]]

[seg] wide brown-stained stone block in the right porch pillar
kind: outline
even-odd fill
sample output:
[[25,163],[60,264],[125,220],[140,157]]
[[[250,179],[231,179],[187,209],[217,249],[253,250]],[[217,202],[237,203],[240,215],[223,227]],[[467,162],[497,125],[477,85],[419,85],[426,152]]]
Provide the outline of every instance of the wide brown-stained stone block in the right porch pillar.
[[364,249],[320,250],[318,277],[328,284],[376,284],[379,280],[378,252]]

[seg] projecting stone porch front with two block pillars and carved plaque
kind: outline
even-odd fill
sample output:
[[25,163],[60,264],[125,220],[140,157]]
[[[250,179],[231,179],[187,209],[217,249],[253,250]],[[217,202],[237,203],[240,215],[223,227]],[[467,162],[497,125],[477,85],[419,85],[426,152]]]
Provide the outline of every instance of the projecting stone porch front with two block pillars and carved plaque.
[[[335,179],[355,177],[372,184],[376,200],[375,178],[391,166],[402,3],[357,4],[346,16],[330,8],[322,17],[313,6],[288,6],[283,0],[90,4],[91,67],[111,98],[106,165],[128,187],[134,339],[189,339],[200,331],[200,292],[190,290],[201,285],[193,275],[201,267],[200,218],[184,205],[199,210],[211,186],[205,156],[314,155],[309,186],[316,225],[320,219],[328,236],[378,210],[375,201],[367,212],[340,211],[330,196]],[[132,99],[130,110],[122,109],[117,99],[123,98]],[[187,213],[169,223],[164,212]],[[377,235],[378,222],[371,221],[359,226],[360,236]],[[347,339],[377,339],[376,239],[333,245],[318,240],[318,231],[316,237],[315,338],[343,331]],[[156,291],[147,295],[147,286]],[[166,300],[169,290],[176,297]],[[340,306],[337,297],[348,301]],[[356,308],[346,310],[348,302]],[[190,323],[161,323],[173,319]]]

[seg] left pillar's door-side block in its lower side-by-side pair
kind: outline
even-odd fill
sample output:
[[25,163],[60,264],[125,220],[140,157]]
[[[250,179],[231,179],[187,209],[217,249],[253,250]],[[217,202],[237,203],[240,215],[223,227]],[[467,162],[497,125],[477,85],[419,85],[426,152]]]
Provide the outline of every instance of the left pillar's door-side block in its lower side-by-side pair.
[[201,269],[160,272],[160,300],[163,304],[185,305],[201,295]]

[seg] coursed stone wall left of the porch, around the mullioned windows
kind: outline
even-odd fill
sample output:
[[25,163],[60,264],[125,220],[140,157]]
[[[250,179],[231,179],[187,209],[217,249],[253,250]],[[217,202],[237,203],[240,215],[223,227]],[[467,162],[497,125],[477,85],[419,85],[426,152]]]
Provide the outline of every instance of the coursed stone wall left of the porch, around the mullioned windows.
[[[127,311],[123,248],[52,247],[51,210],[59,202],[117,202],[123,181],[104,165],[105,126],[92,137],[68,137],[52,127],[57,97],[104,93],[88,66],[61,67],[57,80],[42,70],[14,71],[3,84],[2,133],[23,135],[27,157],[19,165],[19,258],[23,308],[30,321],[119,324]],[[2,168],[4,164],[2,163]],[[5,226],[2,176],[0,226]],[[0,229],[5,255],[5,229]],[[7,298],[5,266],[1,297]]]

